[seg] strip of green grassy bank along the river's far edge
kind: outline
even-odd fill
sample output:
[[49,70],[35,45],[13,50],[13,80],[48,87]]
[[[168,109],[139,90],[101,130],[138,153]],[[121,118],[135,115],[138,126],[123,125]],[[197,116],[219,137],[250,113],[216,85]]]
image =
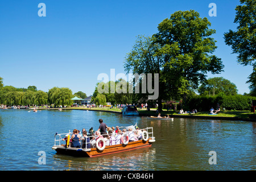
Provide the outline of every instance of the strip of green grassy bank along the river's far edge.
[[[99,107],[94,107],[94,108],[85,108],[85,107],[67,107],[65,109],[77,109],[77,110],[96,110],[96,111],[112,111],[112,112],[117,112],[121,113],[121,110],[117,108],[110,109],[109,107],[105,108],[99,108]],[[158,115],[156,113],[156,108],[150,109],[150,111],[147,111],[146,109],[138,109],[140,115]],[[161,113],[161,116],[169,114],[172,117],[195,117],[195,118],[227,118],[227,119],[241,119],[241,120],[256,120],[256,114],[251,113],[249,110],[243,110],[243,111],[220,111],[217,113],[217,115],[209,115],[209,112],[198,112],[196,114],[178,114],[179,111],[167,111],[163,110]]]

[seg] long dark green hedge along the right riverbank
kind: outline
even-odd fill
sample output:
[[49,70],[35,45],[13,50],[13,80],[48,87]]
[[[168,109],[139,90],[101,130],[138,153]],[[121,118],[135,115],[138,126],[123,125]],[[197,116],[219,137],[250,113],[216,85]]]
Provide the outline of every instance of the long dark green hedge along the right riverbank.
[[251,102],[256,100],[256,97],[251,96],[195,96],[188,100],[187,106],[189,109],[197,109],[199,111],[209,111],[211,107],[216,109],[217,103],[221,109],[226,110],[251,110]]

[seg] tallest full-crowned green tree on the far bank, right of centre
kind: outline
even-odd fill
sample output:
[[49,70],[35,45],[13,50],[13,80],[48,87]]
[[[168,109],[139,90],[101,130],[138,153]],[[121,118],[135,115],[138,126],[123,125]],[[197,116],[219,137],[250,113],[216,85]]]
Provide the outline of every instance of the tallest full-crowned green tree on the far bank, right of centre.
[[133,73],[158,73],[158,106],[182,94],[184,101],[191,89],[205,81],[207,73],[220,73],[222,61],[213,55],[216,41],[210,36],[207,18],[200,18],[194,10],[177,11],[158,26],[151,38],[137,40],[125,60],[125,69]]

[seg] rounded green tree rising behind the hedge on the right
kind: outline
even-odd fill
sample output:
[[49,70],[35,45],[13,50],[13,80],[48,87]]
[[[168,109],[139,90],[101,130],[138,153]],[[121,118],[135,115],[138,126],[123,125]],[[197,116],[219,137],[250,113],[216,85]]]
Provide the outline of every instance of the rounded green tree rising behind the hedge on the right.
[[237,94],[237,86],[223,77],[213,77],[205,80],[198,89],[201,96],[224,94],[233,96]]

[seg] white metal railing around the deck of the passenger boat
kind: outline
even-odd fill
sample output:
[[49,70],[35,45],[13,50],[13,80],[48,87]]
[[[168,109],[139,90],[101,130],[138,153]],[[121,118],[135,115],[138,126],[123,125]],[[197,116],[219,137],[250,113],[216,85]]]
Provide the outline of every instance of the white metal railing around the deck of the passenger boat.
[[[137,125],[137,124],[136,124]],[[135,126],[136,126],[135,125]],[[127,127],[119,127],[119,129],[127,129]],[[146,130],[147,131],[147,133],[148,133],[148,138],[154,138],[154,134],[153,134],[153,128],[152,127],[147,127],[146,129],[141,129],[141,132],[142,131],[144,131],[144,130]],[[134,132],[134,137],[136,138],[135,140],[138,140],[139,138],[138,138],[138,135],[137,135],[137,131],[135,130],[135,131],[133,131]],[[129,134],[129,131],[126,131],[126,133],[127,134]],[[73,133],[71,133],[70,132],[70,130],[69,130],[69,132],[68,133],[63,133],[63,134],[55,134],[55,139],[54,139],[54,145],[56,146],[56,142],[58,142],[59,143],[59,146],[61,146],[61,141],[62,142],[64,142],[63,141],[63,138],[65,138],[64,136],[65,135],[69,135],[70,136],[70,142],[69,142],[69,146],[68,147],[71,147],[71,136],[72,136],[72,134]],[[85,147],[83,148],[83,149],[87,149],[87,145],[89,144],[88,142],[87,142],[87,140],[86,140],[86,138],[90,138],[90,144],[91,144],[91,141],[92,141],[92,138],[94,137],[94,138],[97,138],[98,137],[98,135],[91,135],[91,136],[87,136],[87,137],[82,137],[82,132],[80,132],[79,133],[80,135],[81,135],[81,140],[79,141],[79,143],[80,143],[80,148],[82,148],[83,147],[83,145],[85,145]],[[114,131],[114,133],[112,134],[113,136],[116,136],[117,134],[123,134],[123,132],[121,132],[121,133],[115,133],[115,131]],[[104,136],[109,136],[109,137],[111,137],[111,134],[101,134],[101,136],[102,137],[104,137]],[[59,138],[57,138],[57,137],[59,137]],[[82,142],[82,138],[84,138],[85,140],[84,140],[84,142]],[[120,144],[120,143],[118,143],[118,144]],[[92,146],[90,147],[90,148],[92,148]]]

